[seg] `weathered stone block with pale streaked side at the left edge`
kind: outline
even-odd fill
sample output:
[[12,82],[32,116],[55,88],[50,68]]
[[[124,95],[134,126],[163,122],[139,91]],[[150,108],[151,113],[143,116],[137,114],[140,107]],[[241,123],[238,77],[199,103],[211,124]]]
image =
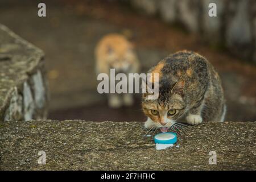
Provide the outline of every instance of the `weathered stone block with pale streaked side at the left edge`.
[[0,24],[0,121],[46,119],[44,53]]

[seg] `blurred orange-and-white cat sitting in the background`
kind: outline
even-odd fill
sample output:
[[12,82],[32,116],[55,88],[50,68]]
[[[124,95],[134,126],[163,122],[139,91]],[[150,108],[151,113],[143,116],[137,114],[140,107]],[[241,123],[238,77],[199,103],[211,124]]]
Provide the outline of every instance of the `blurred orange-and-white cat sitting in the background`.
[[[96,46],[96,73],[110,74],[110,69],[115,69],[115,73],[137,73],[139,71],[139,61],[134,51],[133,45],[118,34],[104,36]],[[133,105],[131,94],[109,94],[109,106],[120,107],[122,105]]]

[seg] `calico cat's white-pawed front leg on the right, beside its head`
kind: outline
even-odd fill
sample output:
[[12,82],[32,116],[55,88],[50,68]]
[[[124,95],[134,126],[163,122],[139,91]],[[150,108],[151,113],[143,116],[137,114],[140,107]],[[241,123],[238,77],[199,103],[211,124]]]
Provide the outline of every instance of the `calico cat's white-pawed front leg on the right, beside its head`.
[[193,107],[188,111],[186,120],[189,125],[199,125],[203,122],[203,118],[201,117],[202,108],[203,104],[200,104],[198,107]]

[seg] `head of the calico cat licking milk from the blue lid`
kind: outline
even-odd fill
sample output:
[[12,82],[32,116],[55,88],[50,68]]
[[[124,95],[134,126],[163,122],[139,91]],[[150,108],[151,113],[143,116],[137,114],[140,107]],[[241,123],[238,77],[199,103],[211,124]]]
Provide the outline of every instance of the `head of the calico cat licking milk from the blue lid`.
[[148,100],[148,93],[143,94],[142,109],[156,127],[171,127],[185,113],[185,81],[179,80],[174,84],[166,79],[159,82],[159,97]]

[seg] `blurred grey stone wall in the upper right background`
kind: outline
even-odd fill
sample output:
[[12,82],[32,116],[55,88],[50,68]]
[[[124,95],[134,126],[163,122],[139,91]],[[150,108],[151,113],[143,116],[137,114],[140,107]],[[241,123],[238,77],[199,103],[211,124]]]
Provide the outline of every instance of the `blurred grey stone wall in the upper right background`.
[[[129,0],[148,15],[183,24],[211,44],[224,44],[231,53],[256,63],[256,1],[254,0]],[[217,16],[208,15],[216,3]]]

